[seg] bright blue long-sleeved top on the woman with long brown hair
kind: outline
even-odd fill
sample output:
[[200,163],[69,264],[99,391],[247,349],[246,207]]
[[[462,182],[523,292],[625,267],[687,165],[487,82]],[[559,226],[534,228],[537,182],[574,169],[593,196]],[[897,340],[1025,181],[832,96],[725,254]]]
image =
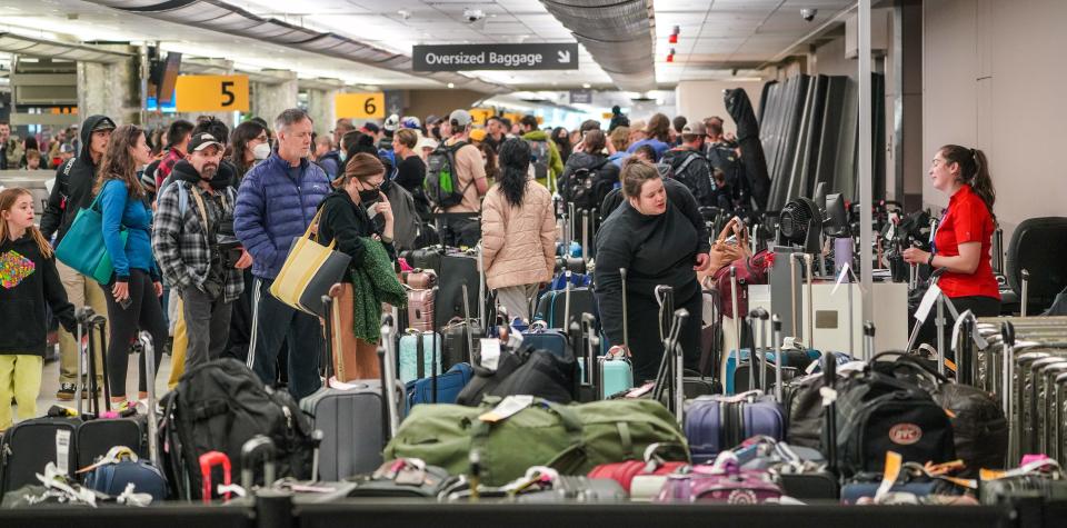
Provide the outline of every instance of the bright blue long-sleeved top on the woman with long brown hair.
[[[111,180],[100,189],[100,211],[103,245],[111,256],[116,278],[128,280],[131,269],[140,269],[157,279],[159,271],[152,257],[152,210],[143,200],[131,199],[126,183]],[[127,232],[124,248],[119,235],[122,230]]]

